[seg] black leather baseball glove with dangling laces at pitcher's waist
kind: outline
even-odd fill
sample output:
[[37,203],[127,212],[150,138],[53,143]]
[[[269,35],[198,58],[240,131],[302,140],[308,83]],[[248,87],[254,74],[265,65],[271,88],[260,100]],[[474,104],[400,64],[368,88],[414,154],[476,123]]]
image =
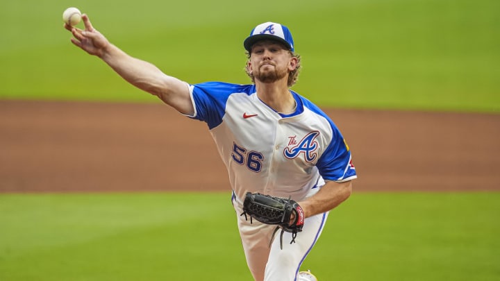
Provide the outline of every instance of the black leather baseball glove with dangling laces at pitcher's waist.
[[[291,216],[294,214],[295,218],[292,223],[290,223]],[[299,203],[293,201],[291,198],[281,198],[274,197],[265,194],[247,192],[243,202],[243,213],[241,216],[250,216],[250,222],[252,219],[256,219],[261,223],[277,225],[271,237],[271,246],[274,239],[274,235],[281,228],[280,235],[280,245],[283,249],[283,232],[292,233],[292,241],[290,244],[295,242],[295,237],[297,237],[297,232],[302,231],[304,214]]]

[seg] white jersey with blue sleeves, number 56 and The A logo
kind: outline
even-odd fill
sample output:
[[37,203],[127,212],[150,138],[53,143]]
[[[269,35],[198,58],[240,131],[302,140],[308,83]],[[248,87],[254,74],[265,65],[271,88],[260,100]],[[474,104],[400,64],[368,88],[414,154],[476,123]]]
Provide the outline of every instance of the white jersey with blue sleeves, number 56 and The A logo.
[[247,191],[302,200],[325,180],[356,178],[351,152],[333,121],[296,92],[292,114],[276,112],[255,85],[190,85],[191,118],[205,121],[235,196]]

